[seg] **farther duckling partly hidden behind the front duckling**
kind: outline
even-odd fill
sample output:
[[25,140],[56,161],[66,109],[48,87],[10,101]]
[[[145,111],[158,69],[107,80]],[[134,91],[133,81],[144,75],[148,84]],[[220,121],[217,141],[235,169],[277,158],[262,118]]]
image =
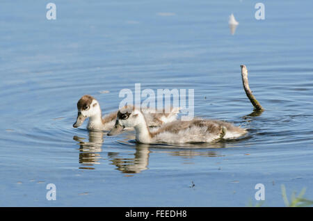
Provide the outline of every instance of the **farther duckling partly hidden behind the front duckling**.
[[[154,113],[154,110],[150,108],[142,109],[143,115],[145,115],[147,119],[147,125],[149,126],[160,126],[163,123],[176,120],[177,113],[179,113],[179,108],[171,108],[170,110],[170,113],[165,113],[165,111],[163,111],[163,113]],[[73,126],[75,128],[81,126],[86,118],[89,117],[87,125],[87,129],[89,130],[111,130],[118,114],[118,111],[115,111],[102,117],[102,111],[99,102],[90,95],[83,95],[83,97],[79,99],[77,102],[77,111],[77,120]]]

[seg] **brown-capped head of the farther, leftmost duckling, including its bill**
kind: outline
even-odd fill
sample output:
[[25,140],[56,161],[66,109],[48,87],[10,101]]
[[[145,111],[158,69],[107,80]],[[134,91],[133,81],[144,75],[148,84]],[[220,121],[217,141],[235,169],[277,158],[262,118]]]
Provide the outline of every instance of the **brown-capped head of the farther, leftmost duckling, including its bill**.
[[101,115],[99,102],[90,95],[83,95],[77,102],[77,120],[73,124],[74,127],[79,127],[87,117]]

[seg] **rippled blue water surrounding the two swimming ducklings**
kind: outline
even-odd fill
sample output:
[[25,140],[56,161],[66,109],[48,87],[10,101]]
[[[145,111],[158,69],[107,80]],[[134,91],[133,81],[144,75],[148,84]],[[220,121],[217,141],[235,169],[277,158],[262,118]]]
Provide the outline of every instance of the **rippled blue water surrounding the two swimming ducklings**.
[[[56,20],[46,2],[0,3],[1,206],[246,206],[257,183],[264,206],[284,206],[282,184],[313,199],[312,1],[264,1],[263,21],[257,1],[54,3]],[[241,64],[262,115],[247,116]],[[136,145],[134,132],[72,128],[82,95],[109,113],[135,83],[193,88],[195,115],[248,137]]]

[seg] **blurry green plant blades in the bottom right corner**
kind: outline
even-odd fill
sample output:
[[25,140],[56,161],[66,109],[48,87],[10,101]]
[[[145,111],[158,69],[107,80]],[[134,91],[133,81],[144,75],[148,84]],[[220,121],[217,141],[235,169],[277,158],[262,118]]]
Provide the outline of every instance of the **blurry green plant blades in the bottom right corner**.
[[303,195],[305,194],[305,188],[301,190],[299,195],[296,197],[296,193],[291,194],[291,202],[289,202],[287,193],[286,193],[286,188],[284,185],[282,187],[282,199],[284,199],[284,204],[289,207],[300,207],[300,206],[312,206],[313,201],[309,199],[303,198]]

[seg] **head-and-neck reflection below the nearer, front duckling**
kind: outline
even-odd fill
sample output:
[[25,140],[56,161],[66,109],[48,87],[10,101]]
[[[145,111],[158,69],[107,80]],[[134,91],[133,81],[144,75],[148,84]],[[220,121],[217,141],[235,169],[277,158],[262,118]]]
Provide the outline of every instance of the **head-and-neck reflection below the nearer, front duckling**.
[[135,154],[131,154],[131,158],[119,156],[120,153],[109,152],[108,156],[117,170],[127,174],[138,174],[148,169],[149,164],[149,145],[136,145]]

